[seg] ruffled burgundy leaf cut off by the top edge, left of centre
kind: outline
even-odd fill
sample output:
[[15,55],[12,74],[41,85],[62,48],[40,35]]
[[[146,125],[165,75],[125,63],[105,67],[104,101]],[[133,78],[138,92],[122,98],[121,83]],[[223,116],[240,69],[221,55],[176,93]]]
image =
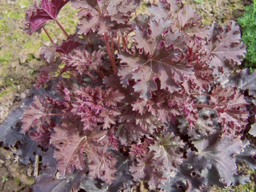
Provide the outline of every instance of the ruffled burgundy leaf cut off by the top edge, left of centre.
[[[72,6],[81,9],[78,12],[81,22],[78,34],[86,35],[90,30],[104,34],[105,32],[112,32],[115,27],[131,26],[129,23],[130,15],[137,8],[138,2],[129,0],[75,0],[72,1]],[[122,24],[124,24],[123,27]]]

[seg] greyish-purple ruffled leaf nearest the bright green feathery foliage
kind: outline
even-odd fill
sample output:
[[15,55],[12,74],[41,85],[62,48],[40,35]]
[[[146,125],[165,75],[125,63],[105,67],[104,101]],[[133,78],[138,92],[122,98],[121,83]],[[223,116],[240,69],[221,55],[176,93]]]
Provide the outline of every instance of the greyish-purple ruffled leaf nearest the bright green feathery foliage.
[[234,66],[240,65],[245,57],[246,48],[240,40],[240,28],[234,21],[228,25],[217,27],[212,24],[207,39],[207,49],[211,53],[210,66],[217,78],[223,73],[230,73]]

